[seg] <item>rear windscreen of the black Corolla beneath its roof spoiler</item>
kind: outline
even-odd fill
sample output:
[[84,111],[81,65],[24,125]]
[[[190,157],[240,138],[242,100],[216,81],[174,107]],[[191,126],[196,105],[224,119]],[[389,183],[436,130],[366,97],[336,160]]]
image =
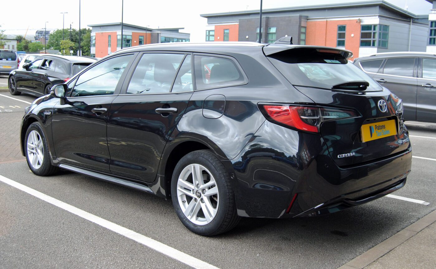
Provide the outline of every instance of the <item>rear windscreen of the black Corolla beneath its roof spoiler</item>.
[[345,59],[340,51],[295,48],[268,56],[271,63],[295,86],[332,89],[347,82],[369,82],[366,91],[382,88],[361,69]]

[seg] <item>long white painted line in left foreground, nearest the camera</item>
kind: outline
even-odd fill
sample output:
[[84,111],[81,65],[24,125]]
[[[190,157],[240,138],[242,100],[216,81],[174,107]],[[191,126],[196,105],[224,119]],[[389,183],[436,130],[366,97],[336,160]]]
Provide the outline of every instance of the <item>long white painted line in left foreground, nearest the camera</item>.
[[129,230],[127,228],[124,228],[123,226],[117,225],[113,222],[107,221],[103,218],[97,217],[96,215],[93,215],[91,213],[88,213],[86,211],[83,211],[82,209],[76,208],[70,204],[64,203],[62,201],[59,201],[58,199],[55,199],[51,196],[48,196],[46,194],[43,194],[42,192],[36,191],[30,187],[27,187],[23,184],[20,184],[14,180],[11,180],[7,177],[3,177],[0,175],[0,181],[3,181],[6,184],[9,184],[12,187],[15,187],[21,191],[27,192],[28,194],[31,194],[41,200],[44,200],[50,204],[53,204],[54,206],[57,206],[58,208],[62,208],[68,212],[71,212],[81,218],[84,218],[86,220],[89,220],[91,222],[94,222],[95,224],[98,224],[104,228],[107,228],[113,232],[116,232],[117,234],[123,235],[127,238],[130,238],[140,244],[143,244],[150,249],[154,249],[164,255],[167,255],[173,259],[176,259],[180,262],[183,262],[184,264],[198,268],[198,269],[218,269],[217,267],[208,264],[207,262],[203,262],[202,260],[199,260],[197,258],[192,257],[191,255],[188,255],[184,252],[181,252],[177,249],[174,249],[170,246],[167,246],[161,242],[158,242],[154,239],[151,239],[149,237],[146,237],[145,235],[141,235],[137,232],[133,232],[132,230]]

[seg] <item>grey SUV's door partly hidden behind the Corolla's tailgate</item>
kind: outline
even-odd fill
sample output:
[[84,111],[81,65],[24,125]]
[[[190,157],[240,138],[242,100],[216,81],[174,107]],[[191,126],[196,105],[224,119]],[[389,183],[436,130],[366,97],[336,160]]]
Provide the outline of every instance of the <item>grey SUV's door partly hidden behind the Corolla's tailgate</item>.
[[388,58],[372,78],[403,100],[404,119],[416,120],[418,58]]

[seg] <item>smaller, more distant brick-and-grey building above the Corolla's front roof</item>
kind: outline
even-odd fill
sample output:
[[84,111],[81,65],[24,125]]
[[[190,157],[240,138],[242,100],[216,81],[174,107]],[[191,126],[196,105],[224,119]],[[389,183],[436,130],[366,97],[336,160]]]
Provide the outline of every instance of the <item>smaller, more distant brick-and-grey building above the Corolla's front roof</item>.
[[91,55],[104,57],[123,48],[143,44],[189,42],[190,34],[180,33],[184,28],[152,29],[123,23],[123,40],[121,39],[121,23],[88,25],[91,31]]

